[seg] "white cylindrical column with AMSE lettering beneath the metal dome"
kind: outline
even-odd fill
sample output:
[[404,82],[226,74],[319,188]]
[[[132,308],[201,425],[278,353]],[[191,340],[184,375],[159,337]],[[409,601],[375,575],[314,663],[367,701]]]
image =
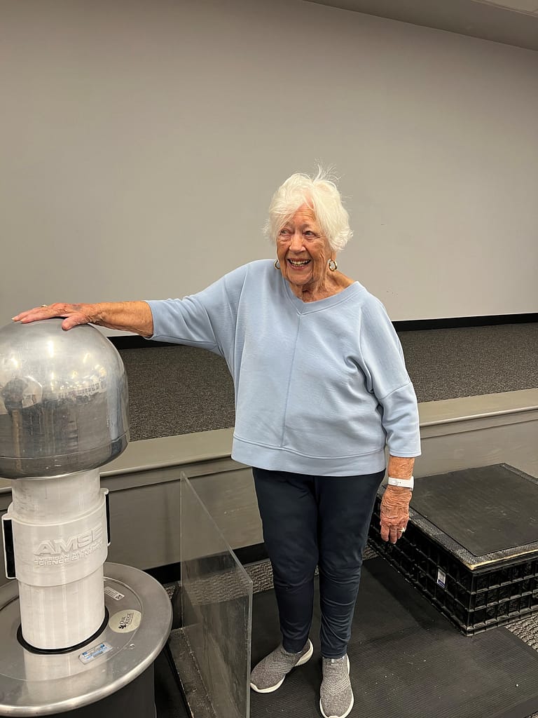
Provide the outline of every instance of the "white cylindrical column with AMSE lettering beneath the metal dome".
[[105,618],[105,496],[97,469],[16,480],[11,521],[22,636],[53,651],[88,640]]

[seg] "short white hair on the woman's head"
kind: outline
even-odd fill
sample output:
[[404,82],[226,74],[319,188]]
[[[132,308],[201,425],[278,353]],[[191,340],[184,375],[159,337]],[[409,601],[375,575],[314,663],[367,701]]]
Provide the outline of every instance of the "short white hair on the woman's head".
[[263,228],[265,236],[275,242],[285,223],[305,204],[316,216],[331,249],[335,252],[344,249],[353,236],[349,214],[329,172],[321,167],[316,177],[296,172],[278,187],[269,205],[269,218]]

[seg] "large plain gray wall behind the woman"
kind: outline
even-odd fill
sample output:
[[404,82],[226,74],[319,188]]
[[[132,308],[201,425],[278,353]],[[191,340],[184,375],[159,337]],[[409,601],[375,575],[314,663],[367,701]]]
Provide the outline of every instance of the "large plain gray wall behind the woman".
[[538,53],[298,0],[2,0],[0,325],[182,296],[316,160],[393,320],[538,311]]

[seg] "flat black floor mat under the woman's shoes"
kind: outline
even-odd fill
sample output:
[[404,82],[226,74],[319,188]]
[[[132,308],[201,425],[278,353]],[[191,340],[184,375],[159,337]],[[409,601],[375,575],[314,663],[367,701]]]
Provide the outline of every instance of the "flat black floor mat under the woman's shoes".
[[[321,715],[317,603],[316,593],[313,658],[278,691],[253,691],[251,718]],[[255,594],[253,664],[279,640],[273,590]],[[538,653],[506,628],[461,635],[383,559],[364,563],[348,653],[349,718],[527,718],[538,709]]]

